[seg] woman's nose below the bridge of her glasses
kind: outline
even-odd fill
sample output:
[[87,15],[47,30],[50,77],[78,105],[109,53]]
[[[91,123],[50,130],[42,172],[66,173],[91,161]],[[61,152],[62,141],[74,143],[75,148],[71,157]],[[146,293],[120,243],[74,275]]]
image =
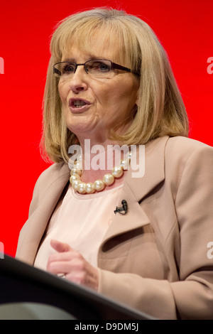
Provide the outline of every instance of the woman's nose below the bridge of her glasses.
[[76,94],[82,92],[82,90],[87,90],[88,88],[88,75],[84,70],[84,66],[78,66],[75,73],[70,77],[70,90]]

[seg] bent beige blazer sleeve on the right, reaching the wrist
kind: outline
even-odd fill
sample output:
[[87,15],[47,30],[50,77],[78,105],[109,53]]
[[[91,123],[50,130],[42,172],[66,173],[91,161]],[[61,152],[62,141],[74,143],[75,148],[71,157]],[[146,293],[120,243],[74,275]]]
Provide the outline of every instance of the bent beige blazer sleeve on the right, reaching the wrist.
[[[165,176],[166,177],[166,176]],[[180,228],[180,281],[99,269],[99,292],[159,319],[213,319],[213,149],[187,158],[175,197]]]

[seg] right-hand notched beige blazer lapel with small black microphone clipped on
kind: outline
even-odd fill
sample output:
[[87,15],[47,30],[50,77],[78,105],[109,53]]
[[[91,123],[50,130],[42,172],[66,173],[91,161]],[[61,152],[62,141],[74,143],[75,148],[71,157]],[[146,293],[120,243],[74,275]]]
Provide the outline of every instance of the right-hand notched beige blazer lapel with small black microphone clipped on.
[[145,147],[145,173],[142,178],[133,178],[131,168],[127,171],[124,188],[119,198],[119,206],[122,200],[126,200],[128,212],[121,215],[116,212],[114,219],[107,230],[102,245],[107,240],[121,233],[134,230],[150,223],[146,212],[139,205],[157,185],[165,179],[165,145],[168,136],[150,141]]

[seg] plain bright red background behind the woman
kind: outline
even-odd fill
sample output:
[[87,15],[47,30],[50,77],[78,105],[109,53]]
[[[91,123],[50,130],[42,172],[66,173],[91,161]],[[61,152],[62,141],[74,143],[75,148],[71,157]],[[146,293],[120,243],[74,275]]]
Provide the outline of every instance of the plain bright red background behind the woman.
[[[43,89],[53,27],[75,11],[112,6],[140,16],[155,31],[180,87],[190,137],[213,146],[212,0],[4,1],[0,8],[1,225],[0,241],[14,255],[33,187],[48,167],[40,158]],[[213,66],[212,66],[213,72]]]

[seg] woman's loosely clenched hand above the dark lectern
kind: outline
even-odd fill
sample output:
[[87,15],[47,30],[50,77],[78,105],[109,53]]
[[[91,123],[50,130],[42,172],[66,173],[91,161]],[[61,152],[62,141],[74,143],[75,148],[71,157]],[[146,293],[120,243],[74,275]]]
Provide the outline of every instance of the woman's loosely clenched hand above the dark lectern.
[[94,290],[98,289],[97,268],[89,264],[79,252],[76,252],[68,244],[51,240],[50,245],[57,253],[50,255],[47,271],[56,275],[64,274],[69,281],[83,284]]

